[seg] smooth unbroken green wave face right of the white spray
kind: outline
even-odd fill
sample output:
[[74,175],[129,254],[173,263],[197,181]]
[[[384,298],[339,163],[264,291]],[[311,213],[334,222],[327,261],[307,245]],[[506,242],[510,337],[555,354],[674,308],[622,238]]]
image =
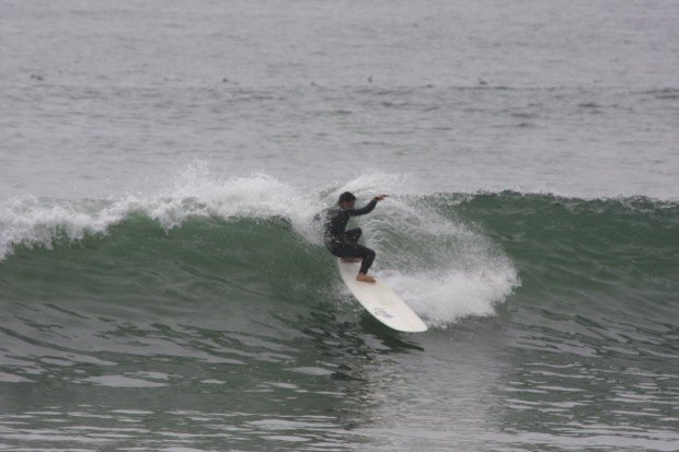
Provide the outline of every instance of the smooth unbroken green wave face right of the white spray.
[[676,204],[513,193],[476,196],[453,207],[446,198],[433,202],[495,240],[519,269],[520,294],[534,302],[573,298],[585,302],[587,313],[591,303],[669,304],[677,288]]

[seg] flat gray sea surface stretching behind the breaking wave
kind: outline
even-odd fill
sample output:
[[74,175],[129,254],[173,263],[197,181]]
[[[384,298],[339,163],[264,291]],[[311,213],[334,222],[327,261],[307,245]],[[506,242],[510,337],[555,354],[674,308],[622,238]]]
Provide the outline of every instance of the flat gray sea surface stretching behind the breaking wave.
[[[0,193],[187,165],[676,198],[675,1],[3,1]],[[426,183],[426,184],[425,184]]]

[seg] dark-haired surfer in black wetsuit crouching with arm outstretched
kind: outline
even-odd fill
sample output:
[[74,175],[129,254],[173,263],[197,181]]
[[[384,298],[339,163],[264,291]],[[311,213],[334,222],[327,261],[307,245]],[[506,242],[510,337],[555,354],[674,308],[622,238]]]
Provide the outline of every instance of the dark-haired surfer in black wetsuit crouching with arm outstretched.
[[337,206],[327,210],[325,216],[325,247],[335,256],[343,260],[362,259],[360,270],[356,276],[357,281],[375,282],[375,278],[368,276],[368,269],[375,260],[375,252],[367,246],[358,244],[358,239],[362,231],[360,228],[346,230],[349,218],[370,213],[378,201],[384,199],[387,195],[379,195],[360,209],[355,209],[356,196],[349,192],[340,195]]

